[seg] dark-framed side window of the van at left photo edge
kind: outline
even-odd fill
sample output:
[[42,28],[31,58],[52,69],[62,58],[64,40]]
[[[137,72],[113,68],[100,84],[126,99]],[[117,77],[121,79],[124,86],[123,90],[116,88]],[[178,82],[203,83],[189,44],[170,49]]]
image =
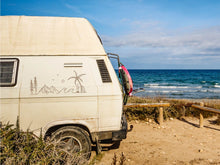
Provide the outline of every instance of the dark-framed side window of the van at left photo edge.
[[18,59],[0,58],[0,86],[15,86],[18,70]]

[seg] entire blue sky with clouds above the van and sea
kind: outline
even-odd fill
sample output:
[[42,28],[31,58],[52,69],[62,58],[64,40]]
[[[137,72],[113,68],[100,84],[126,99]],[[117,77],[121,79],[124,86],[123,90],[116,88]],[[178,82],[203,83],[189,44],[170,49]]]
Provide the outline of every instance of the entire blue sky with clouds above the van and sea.
[[1,15],[85,17],[130,69],[220,69],[219,0],[2,0]]

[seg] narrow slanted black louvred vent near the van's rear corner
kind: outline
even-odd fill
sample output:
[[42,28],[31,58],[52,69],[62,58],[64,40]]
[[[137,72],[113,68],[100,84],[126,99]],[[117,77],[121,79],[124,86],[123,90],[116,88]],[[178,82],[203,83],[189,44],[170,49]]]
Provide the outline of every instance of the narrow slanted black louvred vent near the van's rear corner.
[[99,67],[99,72],[101,74],[102,77],[102,82],[103,83],[109,83],[112,82],[111,77],[109,75],[108,69],[105,65],[105,61],[104,60],[96,60],[98,67]]

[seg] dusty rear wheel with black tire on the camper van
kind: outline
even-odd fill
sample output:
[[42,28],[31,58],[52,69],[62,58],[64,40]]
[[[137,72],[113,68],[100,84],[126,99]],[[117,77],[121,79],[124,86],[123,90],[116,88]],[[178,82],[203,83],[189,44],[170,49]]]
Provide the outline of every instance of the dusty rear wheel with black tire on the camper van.
[[52,134],[60,149],[69,153],[83,153],[87,159],[91,156],[91,141],[88,133],[76,126],[65,126]]

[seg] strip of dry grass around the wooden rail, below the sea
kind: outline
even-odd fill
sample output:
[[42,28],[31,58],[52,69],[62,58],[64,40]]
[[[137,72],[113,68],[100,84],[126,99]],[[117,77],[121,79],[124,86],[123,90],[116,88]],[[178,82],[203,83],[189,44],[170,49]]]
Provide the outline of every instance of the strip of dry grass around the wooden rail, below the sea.
[[[202,113],[205,118],[216,116],[215,113],[206,112],[196,110],[191,107],[192,104],[199,104],[200,102],[204,102],[204,105],[207,107],[220,109],[220,100],[212,100],[212,99],[203,99],[203,100],[187,100],[187,99],[166,99],[162,97],[130,97],[129,103],[158,103],[160,101],[170,103],[170,107],[165,108],[164,110],[164,119],[169,118],[182,118],[183,116],[192,116],[199,117],[199,114]],[[159,112],[158,108],[125,108],[124,109],[128,120],[145,120],[153,119],[157,121]],[[216,121],[220,123],[220,119]]]

